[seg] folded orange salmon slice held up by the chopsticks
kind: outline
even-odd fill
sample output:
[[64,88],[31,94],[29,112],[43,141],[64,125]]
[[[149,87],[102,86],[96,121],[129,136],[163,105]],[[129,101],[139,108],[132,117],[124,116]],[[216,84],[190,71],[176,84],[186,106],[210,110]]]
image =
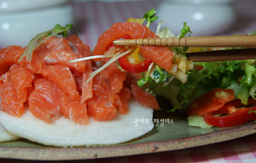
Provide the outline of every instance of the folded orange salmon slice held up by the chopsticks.
[[[106,48],[116,39],[145,39],[157,38],[154,32],[150,31],[145,25],[134,22],[114,23],[107,31],[105,31],[98,39],[92,55],[103,55]],[[166,71],[171,69],[173,53],[166,47],[141,46],[140,53],[164,68]],[[164,60],[163,60],[164,58]],[[101,59],[95,59],[100,61]]]

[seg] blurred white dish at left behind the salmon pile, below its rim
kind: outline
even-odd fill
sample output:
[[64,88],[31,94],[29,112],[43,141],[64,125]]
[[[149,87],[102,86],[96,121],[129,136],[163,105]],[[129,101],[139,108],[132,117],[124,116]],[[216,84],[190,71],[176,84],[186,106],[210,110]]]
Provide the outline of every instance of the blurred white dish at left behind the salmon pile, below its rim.
[[70,5],[0,14],[0,48],[10,45],[25,47],[40,32],[54,28],[56,24],[73,23]]

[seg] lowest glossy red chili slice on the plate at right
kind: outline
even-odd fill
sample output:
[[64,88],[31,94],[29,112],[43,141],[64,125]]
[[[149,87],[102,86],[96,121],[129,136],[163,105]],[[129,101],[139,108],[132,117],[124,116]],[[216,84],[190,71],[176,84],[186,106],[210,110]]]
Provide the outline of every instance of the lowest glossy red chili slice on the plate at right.
[[[233,100],[227,103],[228,106],[235,106],[235,108],[238,108],[240,106],[244,106],[241,102],[241,100]],[[236,112],[231,113],[230,115],[224,115],[220,117],[213,116],[216,112],[211,112],[209,114],[204,115],[204,120],[213,126],[217,127],[231,127],[231,126],[238,126],[245,124],[249,121],[256,119],[255,112],[251,112],[248,114],[250,110],[255,111],[256,110],[256,101],[253,99],[249,99],[248,105],[254,105],[249,108],[239,108]],[[220,112],[218,110],[217,112]],[[225,113],[225,109],[223,109],[223,113]]]

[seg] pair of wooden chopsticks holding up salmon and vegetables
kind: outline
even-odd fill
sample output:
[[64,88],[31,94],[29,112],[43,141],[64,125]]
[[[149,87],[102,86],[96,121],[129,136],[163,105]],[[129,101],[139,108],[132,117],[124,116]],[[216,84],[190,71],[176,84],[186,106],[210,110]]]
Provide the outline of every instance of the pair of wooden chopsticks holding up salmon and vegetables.
[[169,46],[169,47],[246,47],[242,49],[187,53],[193,62],[217,62],[256,59],[256,36],[211,36],[183,38],[151,38],[115,40],[114,46]]

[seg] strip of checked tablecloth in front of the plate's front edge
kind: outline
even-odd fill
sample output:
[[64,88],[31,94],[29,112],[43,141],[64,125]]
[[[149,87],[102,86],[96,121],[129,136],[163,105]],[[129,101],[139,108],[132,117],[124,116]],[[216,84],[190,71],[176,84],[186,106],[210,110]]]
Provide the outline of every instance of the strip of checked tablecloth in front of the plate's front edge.
[[[90,160],[57,161],[57,163],[255,163],[256,134],[225,142],[168,152],[100,158]],[[3,163],[43,163],[0,159]]]

